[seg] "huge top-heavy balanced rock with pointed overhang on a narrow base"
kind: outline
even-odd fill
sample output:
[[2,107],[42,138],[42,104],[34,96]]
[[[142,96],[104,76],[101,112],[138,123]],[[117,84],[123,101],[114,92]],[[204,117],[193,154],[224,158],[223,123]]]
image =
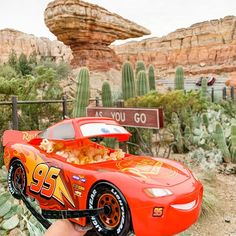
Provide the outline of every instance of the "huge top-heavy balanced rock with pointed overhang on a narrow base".
[[70,46],[75,66],[108,71],[120,65],[108,46],[118,39],[140,37],[150,32],[106,9],[80,0],[55,0],[44,13],[45,23],[58,40]]

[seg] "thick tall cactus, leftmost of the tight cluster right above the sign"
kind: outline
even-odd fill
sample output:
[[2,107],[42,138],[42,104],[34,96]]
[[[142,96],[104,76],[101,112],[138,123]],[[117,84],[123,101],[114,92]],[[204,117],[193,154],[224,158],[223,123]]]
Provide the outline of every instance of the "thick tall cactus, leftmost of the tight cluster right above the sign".
[[129,62],[124,63],[122,67],[122,91],[124,100],[135,96],[134,72]]

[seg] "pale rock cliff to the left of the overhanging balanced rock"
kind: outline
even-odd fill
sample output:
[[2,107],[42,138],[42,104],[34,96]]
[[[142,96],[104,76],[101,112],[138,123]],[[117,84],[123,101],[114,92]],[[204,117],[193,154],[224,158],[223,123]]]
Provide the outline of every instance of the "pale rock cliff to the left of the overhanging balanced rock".
[[19,56],[24,53],[27,57],[31,54],[37,58],[51,58],[54,61],[70,61],[71,51],[59,41],[50,41],[47,38],[38,38],[31,34],[4,29],[0,30],[0,64],[8,60],[10,53],[14,50]]

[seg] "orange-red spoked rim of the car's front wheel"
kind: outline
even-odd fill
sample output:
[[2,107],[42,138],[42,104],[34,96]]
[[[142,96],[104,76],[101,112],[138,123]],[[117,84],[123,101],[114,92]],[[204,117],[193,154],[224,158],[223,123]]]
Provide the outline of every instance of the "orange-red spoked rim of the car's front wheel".
[[100,214],[100,220],[109,228],[116,227],[120,223],[121,211],[115,196],[109,193],[103,194],[98,200],[98,208],[104,207],[108,207],[110,210],[108,213]]

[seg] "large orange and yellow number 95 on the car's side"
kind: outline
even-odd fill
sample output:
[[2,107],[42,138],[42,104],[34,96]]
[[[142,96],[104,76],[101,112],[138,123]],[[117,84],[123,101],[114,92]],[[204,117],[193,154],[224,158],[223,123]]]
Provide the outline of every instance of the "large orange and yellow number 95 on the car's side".
[[34,193],[40,193],[43,197],[51,198],[56,187],[56,179],[60,169],[48,167],[46,164],[38,164],[33,173],[33,181],[30,184],[30,190]]

